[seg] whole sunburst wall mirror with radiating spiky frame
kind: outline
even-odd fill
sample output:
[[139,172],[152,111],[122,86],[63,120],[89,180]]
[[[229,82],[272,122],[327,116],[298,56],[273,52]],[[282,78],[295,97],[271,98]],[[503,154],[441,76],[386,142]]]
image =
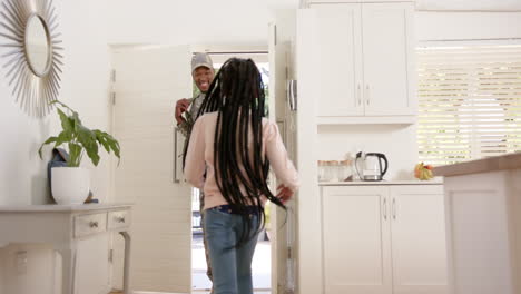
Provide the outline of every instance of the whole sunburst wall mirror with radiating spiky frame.
[[60,37],[52,0],[2,1],[0,60],[16,101],[30,116],[45,117],[58,98],[63,66]]

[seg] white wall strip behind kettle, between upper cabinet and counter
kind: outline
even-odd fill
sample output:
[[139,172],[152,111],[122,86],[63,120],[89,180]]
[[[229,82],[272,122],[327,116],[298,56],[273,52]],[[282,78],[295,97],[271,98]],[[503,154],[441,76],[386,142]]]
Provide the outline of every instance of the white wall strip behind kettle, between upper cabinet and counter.
[[386,180],[413,179],[417,160],[415,125],[318,126],[321,160],[344,159],[347,153],[383,153],[389,160]]

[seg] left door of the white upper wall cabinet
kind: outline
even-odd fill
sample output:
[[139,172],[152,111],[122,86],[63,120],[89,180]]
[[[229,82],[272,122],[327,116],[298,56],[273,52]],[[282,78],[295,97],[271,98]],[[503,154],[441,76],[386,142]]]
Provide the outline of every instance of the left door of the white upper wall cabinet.
[[362,116],[361,6],[317,6],[320,116]]

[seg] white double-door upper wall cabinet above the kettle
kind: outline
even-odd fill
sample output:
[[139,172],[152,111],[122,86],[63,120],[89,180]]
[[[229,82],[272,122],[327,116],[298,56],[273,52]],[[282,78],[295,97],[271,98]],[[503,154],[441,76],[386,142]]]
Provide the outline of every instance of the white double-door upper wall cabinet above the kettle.
[[350,118],[412,122],[413,3],[311,7],[316,13],[320,59],[318,124],[348,122]]

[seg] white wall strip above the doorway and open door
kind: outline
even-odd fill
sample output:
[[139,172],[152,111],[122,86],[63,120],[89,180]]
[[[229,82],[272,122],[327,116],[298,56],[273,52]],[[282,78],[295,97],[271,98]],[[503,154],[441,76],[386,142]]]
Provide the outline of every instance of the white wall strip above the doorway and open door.
[[110,43],[267,45],[274,9],[295,0],[111,0]]

